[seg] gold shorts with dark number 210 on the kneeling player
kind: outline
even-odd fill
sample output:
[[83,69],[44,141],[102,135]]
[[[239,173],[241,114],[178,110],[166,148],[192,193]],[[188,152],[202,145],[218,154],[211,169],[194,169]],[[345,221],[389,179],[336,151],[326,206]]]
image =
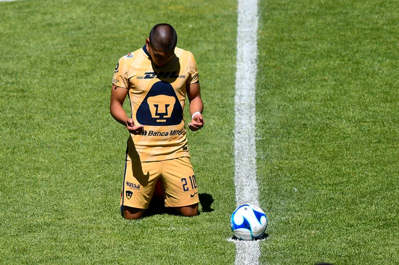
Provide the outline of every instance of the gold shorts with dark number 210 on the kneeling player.
[[198,188],[190,158],[126,161],[121,206],[147,209],[160,179],[166,207],[198,203]]

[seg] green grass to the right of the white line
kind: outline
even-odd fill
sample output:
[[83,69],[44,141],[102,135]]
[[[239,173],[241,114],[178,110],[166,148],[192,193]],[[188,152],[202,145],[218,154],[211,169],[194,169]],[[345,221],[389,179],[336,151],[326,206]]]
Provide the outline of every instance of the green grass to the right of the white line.
[[398,264],[398,3],[260,4],[267,264]]

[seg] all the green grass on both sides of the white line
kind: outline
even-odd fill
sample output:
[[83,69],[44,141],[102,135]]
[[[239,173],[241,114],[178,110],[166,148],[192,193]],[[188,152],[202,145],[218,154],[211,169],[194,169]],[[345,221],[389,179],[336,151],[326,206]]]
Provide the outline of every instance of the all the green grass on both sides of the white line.
[[[262,264],[399,263],[398,8],[259,1]],[[24,0],[0,17],[0,263],[233,264],[236,2]],[[206,124],[188,138],[205,199],[195,218],[126,221],[111,79],[159,22],[200,70]]]

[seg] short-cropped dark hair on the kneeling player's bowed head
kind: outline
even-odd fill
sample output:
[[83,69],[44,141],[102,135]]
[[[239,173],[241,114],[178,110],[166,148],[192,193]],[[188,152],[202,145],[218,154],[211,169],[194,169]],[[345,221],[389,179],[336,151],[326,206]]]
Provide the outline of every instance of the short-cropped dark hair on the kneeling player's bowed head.
[[156,50],[174,50],[177,42],[176,30],[167,23],[156,24],[150,31],[150,45]]

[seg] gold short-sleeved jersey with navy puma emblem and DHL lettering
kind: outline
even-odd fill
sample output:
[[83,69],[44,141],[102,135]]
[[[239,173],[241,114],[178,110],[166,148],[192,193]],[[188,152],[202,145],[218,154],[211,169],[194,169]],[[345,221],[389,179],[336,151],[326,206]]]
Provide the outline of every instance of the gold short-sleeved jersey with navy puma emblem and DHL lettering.
[[183,110],[186,85],[199,82],[191,52],[175,48],[172,60],[157,67],[146,46],[119,59],[112,84],[129,89],[135,124],[141,135],[131,134],[126,159],[149,162],[189,157]]

